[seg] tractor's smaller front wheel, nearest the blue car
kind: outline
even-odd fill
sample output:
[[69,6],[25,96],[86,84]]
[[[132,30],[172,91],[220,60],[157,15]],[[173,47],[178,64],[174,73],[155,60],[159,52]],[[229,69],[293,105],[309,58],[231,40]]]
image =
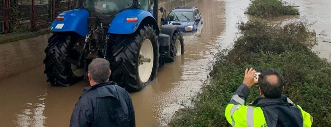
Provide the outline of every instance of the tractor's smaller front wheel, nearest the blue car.
[[184,54],[184,40],[183,35],[180,31],[177,31],[170,42],[169,57],[166,58],[166,62],[175,61],[177,55]]

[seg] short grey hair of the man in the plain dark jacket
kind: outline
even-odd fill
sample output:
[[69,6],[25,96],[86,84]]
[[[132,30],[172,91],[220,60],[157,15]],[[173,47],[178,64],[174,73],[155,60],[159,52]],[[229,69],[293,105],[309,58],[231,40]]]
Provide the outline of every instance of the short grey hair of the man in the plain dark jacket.
[[89,65],[89,73],[96,83],[105,82],[109,79],[109,61],[104,58],[93,59]]

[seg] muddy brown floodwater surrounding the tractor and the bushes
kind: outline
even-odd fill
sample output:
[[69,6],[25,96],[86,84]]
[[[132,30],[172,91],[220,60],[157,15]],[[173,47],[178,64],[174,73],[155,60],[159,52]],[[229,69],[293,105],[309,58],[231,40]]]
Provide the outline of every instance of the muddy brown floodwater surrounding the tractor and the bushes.
[[[314,48],[330,60],[331,7],[329,0],[289,1],[300,6],[300,19],[315,23],[319,45]],[[131,93],[136,126],[166,125],[178,103],[187,101],[207,79],[208,65],[218,46],[231,46],[238,36],[237,22],[246,21],[246,0],[200,0],[201,33],[185,35],[185,54],[158,71],[142,91]],[[0,45],[0,126],[68,126],[72,110],[87,81],[70,87],[52,87],[43,74],[43,50],[49,35]],[[324,41],[324,42],[323,42]]]

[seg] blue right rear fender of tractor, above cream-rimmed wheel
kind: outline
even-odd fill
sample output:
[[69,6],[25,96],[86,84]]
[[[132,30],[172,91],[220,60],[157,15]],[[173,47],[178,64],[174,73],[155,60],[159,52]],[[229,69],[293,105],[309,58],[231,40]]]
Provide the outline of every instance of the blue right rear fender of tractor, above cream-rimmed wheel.
[[[137,21],[127,22],[127,18],[137,18]],[[107,33],[132,34],[141,24],[153,25],[153,28],[156,30],[156,35],[159,34],[158,25],[153,15],[148,11],[140,9],[127,9],[118,13],[110,24]]]

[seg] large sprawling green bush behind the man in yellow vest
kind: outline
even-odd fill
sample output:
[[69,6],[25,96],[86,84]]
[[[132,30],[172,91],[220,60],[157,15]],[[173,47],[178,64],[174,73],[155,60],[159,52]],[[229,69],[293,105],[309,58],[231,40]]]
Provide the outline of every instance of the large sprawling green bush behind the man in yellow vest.
[[[263,21],[241,23],[232,48],[215,55],[209,84],[192,98],[191,108],[175,114],[169,126],[229,126],[224,111],[242,83],[246,68],[274,68],[285,78],[285,94],[313,117],[313,126],[331,126],[331,65],[311,48],[316,35],[302,22],[269,25]],[[251,88],[250,103],[259,97]]]

